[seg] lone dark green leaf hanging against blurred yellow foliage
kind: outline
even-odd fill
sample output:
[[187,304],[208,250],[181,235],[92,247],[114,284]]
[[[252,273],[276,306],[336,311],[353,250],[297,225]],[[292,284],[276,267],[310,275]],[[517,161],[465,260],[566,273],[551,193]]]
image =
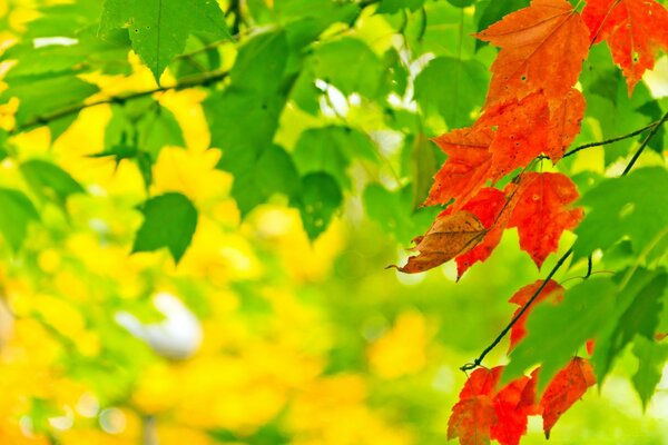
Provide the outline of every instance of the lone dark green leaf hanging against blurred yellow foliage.
[[137,231],[132,253],[167,247],[178,263],[190,245],[197,226],[197,209],[184,195],[168,192],[150,198],[139,208],[144,224]]

